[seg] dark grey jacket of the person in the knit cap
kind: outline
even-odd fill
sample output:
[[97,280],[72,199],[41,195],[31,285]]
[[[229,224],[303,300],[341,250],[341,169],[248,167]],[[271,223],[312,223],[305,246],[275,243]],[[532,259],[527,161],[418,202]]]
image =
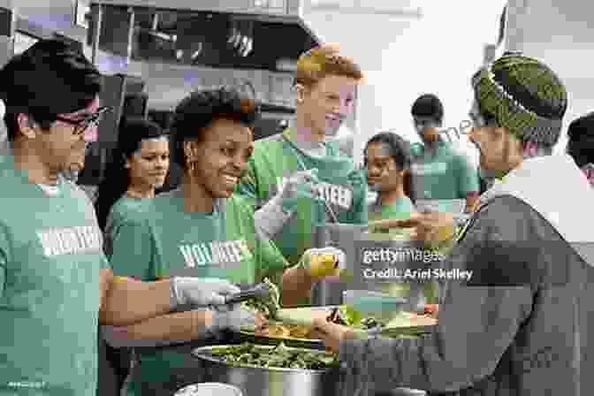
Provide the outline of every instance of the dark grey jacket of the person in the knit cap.
[[590,394],[594,252],[580,247],[584,260],[575,248],[527,203],[494,198],[444,263],[473,270],[475,286],[444,284],[438,326],[424,339],[343,341],[340,394],[397,387],[461,396]]

